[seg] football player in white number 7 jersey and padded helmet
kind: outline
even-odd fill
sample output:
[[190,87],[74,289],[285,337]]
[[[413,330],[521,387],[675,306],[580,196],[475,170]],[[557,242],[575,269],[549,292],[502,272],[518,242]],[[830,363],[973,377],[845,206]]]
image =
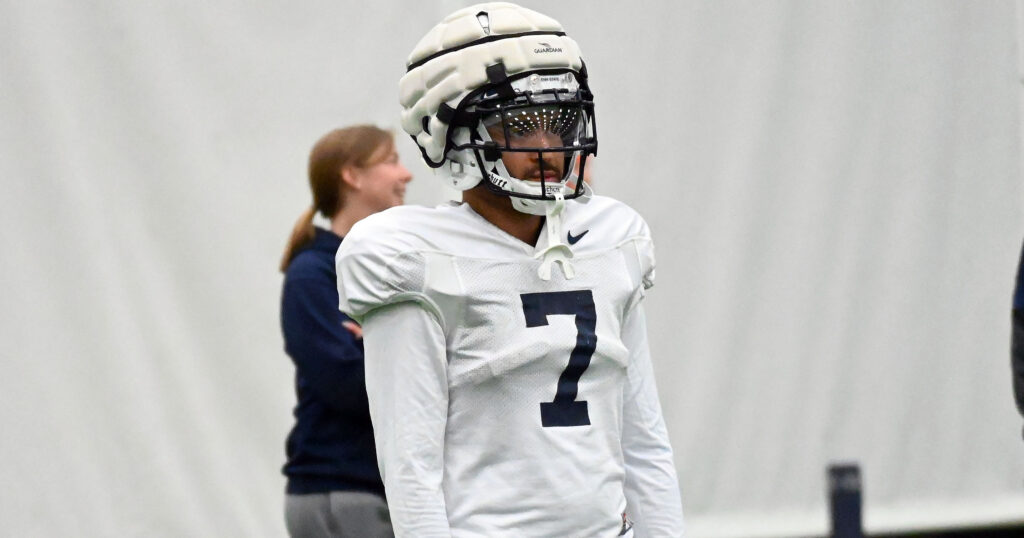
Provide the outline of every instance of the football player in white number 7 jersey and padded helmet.
[[681,536],[642,302],[653,247],[573,173],[597,153],[577,43],[478,4],[407,68],[402,128],[463,203],[370,216],[336,259],[396,536]]

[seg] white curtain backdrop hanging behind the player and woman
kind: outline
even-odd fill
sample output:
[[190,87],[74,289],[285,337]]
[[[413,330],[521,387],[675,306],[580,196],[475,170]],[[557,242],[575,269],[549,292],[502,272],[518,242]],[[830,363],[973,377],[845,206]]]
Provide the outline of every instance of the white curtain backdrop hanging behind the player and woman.
[[[0,535],[284,536],[276,263],[336,126],[469,2],[0,0]],[[550,4],[550,5],[549,5]],[[637,5],[639,4],[639,5]],[[1012,1],[569,0],[597,190],[651,224],[693,537],[1024,521]]]

